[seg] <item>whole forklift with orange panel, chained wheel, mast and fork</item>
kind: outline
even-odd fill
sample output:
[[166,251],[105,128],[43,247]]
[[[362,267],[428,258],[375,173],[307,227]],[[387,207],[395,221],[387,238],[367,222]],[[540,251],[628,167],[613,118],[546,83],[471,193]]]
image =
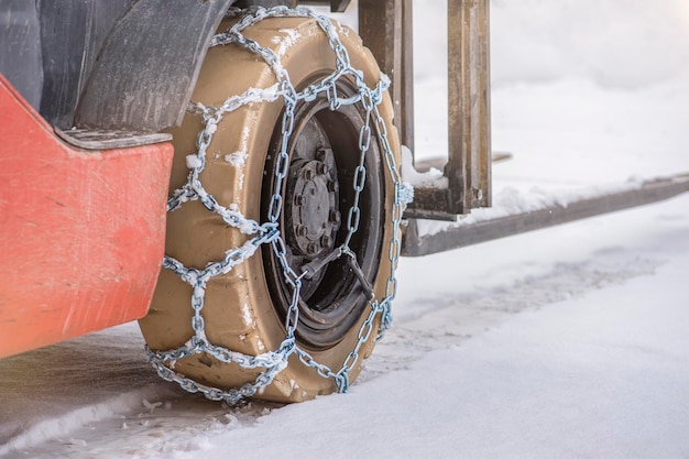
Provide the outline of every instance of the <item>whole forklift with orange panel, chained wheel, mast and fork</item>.
[[489,1],[448,1],[450,146],[415,189],[412,1],[350,3],[0,0],[0,357],[139,319],[158,374],[211,400],[346,392],[401,255],[689,189],[422,233],[491,206]]

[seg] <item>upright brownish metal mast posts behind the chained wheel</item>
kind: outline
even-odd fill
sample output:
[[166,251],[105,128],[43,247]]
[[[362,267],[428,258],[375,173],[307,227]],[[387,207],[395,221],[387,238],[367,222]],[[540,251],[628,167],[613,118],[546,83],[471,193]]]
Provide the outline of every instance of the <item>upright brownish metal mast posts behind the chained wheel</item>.
[[[414,151],[412,0],[360,0],[359,32],[392,76],[395,125]],[[406,218],[453,220],[491,205],[489,0],[448,0],[447,188],[416,188]]]

